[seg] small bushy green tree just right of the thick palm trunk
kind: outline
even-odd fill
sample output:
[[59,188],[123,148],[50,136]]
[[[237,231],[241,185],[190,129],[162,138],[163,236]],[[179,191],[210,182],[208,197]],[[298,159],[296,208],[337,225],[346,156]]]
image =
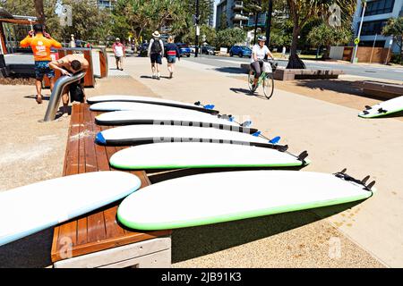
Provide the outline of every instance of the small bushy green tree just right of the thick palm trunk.
[[322,56],[326,59],[329,58],[331,45],[344,45],[353,38],[353,31],[347,27],[332,28],[322,23],[311,29],[307,38],[313,46],[326,46],[326,54]]

